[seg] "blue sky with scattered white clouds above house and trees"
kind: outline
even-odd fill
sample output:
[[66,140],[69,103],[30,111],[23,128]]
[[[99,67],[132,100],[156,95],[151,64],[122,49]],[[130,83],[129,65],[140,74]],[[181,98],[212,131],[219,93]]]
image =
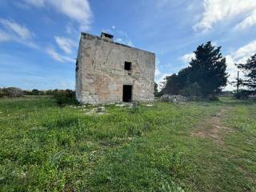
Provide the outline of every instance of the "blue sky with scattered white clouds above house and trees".
[[154,52],[156,82],[208,41],[222,46],[230,80],[256,53],[255,0],[1,0],[0,10],[0,87],[74,89],[82,31]]

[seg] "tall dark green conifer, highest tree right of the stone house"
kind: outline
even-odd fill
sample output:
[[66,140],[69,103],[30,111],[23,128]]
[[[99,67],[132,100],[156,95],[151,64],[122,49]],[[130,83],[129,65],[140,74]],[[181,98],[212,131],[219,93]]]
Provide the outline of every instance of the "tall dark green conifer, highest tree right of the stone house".
[[202,96],[218,94],[226,86],[228,74],[226,73],[226,58],[222,57],[221,46],[216,49],[211,42],[198,46],[194,51],[187,81],[189,84],[198,83]]

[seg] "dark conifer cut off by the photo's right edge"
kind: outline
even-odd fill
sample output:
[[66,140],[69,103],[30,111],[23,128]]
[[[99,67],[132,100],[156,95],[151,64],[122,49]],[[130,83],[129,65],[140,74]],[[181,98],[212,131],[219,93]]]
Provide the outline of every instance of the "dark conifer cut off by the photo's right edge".
[[242,85],[250,90],[256,90],[256,54],[248,58],[245,64],[237,64],[237,66],[245,72],[246,79],[242,81]]

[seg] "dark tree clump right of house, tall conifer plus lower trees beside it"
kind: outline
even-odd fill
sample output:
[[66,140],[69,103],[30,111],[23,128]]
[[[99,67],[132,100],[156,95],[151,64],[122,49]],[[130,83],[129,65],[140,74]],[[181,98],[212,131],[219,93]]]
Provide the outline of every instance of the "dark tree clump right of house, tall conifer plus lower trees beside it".
[[178,74],[166,77],[162,94],[182,94],[204,98],[219,94],[226,86],[226,58],[222,57],[221,46],[215,48],[211,42],[198,46],[189,66]]

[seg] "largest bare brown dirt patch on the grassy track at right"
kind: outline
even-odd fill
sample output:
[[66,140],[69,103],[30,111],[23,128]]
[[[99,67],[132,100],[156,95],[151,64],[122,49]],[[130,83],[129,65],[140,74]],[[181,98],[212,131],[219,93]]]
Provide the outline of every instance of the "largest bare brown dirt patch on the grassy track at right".
[[191,135],[200,138],[211,138],[218,144],[223,145],[224,135],[233,131],[230,127],[224,126],[223,123],[228,110],[230,109],[219,110],[214,116],[206,118]]

